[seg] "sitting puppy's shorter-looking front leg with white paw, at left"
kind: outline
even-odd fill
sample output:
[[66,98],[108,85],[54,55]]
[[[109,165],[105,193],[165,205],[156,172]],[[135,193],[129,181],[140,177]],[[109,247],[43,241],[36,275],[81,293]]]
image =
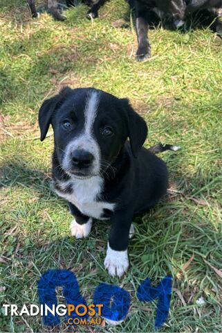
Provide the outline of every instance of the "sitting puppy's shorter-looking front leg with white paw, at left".
[[70,225],[71,235],[75,238],[85,238],[91,232],[93,219],[80,212],[72,203],[68,203],[71,214],[74,216]]

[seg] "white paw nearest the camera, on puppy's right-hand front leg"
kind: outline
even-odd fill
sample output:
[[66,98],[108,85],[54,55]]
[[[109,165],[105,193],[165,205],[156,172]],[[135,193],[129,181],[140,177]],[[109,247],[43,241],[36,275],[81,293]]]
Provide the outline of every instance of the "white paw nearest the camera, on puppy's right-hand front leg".
[[127,250],[115,251],[107,246],[107,257],[104,260],[104,266],[107,268],[109,275],[119,277],[127,271],[129,267],[129,259]]

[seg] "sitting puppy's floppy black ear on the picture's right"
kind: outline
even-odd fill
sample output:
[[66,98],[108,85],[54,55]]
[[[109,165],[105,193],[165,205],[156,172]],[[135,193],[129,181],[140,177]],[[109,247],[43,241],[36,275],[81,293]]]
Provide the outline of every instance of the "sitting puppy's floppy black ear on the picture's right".
[[127,121],[128,137],[131,146],[131,151],[134,157],[137,157],[138,151],[145,143],[147,138],[147,123],[138,113],[131,107],[128,99],[121,99],[124,105],[124,112]]

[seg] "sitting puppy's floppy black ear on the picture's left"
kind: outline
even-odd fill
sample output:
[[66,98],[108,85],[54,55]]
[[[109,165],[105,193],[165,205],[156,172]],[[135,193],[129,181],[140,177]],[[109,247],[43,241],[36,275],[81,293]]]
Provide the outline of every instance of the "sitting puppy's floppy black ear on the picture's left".
[[48,132],[49,125],[52,120],[53,112],[64,103],[68,94],[72,92],[69,87],[64,87],[59,94],[55,95],[51,99],[46,99],[39,109],[39,128],[41,132],[40,140],[43,141]]

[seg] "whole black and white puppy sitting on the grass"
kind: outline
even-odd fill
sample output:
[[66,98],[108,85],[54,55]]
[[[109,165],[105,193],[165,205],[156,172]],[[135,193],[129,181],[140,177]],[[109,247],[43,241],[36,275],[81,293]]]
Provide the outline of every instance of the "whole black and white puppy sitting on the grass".
[[102,90],[65,87],[41,105],[41,141],[50,124],[53,186],[74,216],[71,234],[87,237],[93,219],[110,219],[104,265],[110,275],[121,276],[129,266],[134,214],[147,211],[167,191],[165,162],[142,148],[147,124],[129,101]]

